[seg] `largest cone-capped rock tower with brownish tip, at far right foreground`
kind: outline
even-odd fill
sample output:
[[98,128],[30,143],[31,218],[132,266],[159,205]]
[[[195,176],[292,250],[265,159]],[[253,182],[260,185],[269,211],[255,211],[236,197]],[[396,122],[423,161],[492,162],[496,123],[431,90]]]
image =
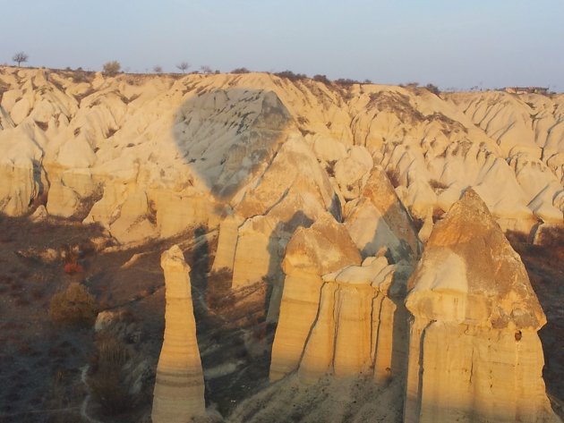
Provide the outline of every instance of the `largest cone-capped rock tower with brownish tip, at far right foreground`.
[[542,377],[543,309],[474,190],[435,225],[408,288],[406,422],[559,421]]

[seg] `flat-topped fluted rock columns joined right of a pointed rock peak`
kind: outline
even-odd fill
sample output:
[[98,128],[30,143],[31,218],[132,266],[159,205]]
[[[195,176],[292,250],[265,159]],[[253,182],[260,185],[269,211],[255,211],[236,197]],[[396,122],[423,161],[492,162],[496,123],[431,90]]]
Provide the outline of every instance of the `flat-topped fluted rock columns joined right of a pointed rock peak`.
[[385,385],[405,375],[406,280],[412,267],[366,258],[324,275],[320,306],[299,366],[300,378],[372,374]]

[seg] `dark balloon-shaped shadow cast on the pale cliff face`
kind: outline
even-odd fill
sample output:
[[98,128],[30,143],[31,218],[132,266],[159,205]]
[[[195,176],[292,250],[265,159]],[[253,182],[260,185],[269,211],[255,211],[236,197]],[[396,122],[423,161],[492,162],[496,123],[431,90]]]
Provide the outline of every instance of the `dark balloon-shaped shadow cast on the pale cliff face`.
[[177,155],[216,199],[228,201],[253,173],[269,165],[293,118],[271,91],[196,93],[176,111]]

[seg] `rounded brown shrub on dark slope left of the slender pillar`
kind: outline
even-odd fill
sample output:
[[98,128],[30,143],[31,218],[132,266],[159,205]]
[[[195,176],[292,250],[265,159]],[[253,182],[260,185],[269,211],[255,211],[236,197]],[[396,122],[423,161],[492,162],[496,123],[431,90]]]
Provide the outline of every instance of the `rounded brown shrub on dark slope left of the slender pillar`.
[[91,326],[96,319],[96,300],[81,283],[71,283],[51,299],[49,316],[60,324]]

